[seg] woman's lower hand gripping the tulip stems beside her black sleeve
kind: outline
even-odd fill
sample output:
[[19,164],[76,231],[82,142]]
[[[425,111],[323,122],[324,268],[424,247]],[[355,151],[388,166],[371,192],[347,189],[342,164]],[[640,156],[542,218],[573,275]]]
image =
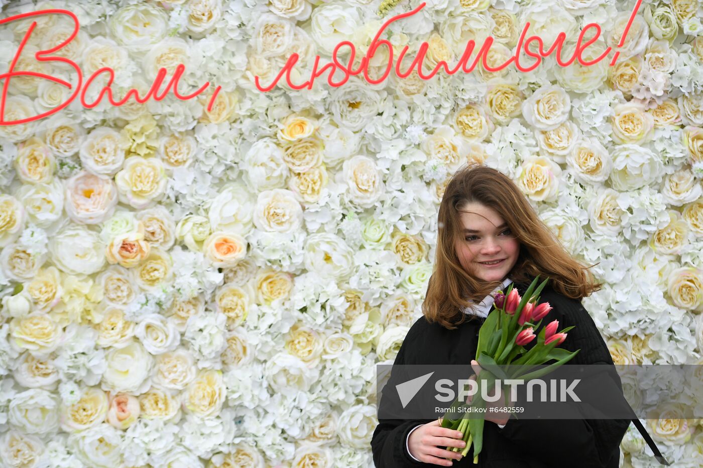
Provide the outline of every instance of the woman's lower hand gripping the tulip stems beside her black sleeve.
[[451,460],[460,460],[461,453],[452,452],[440,447],[458,447],[463,449],[466,443],[461,440],[459,431],[441,427],[439,420],[434,420],[423,424],[415,429],[408,438],[408,450],[413,457],[420,462],[439,464],[443,467],[451,467]]

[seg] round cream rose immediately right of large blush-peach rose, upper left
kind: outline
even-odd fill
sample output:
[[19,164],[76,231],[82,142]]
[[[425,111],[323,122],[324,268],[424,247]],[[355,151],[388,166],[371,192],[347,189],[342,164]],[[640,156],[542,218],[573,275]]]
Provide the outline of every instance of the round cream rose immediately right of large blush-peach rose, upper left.
[[132,156],[115,176],[120,202],[136,209],[152,206],[166,191],[166,172],[161,160]]

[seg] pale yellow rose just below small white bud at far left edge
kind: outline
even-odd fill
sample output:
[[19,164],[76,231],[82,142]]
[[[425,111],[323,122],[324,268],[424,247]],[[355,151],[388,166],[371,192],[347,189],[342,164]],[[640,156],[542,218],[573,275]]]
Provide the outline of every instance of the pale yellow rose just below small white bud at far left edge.
[[49,316],[32,313],[23,318],[12,319],[10,336],[20,349],[26,349],[34,356],[44,357],[58,348],[63,330]]

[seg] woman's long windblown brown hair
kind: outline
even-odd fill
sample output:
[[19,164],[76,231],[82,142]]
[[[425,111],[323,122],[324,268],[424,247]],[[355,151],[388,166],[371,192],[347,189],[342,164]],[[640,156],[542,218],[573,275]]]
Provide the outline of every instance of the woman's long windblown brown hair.
[[437,249],[423,302],[423,313],[430,323],[436,321],[453,330],[472,317],[463,313],[463,308],[471,306],[468,299],[479,303],[501,285],[502,281],[473,277],[459,263],[455,248],[462,239],[459,210],[471,202],[501,214],[520,242],[520,254],[508,273],[514,282],[531,281],[536,275],[548,277],[553,290],[579,300],[600,290],[602,283],[588,270],[598,264],[584,266],[576,261],[508,176],[485,164],[472,163],[453,174],[439,204]]

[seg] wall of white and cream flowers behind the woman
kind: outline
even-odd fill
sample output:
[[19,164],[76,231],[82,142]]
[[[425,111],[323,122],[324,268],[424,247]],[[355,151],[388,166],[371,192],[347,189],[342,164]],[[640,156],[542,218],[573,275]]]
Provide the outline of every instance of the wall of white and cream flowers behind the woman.
[[[1,3],[3,17],[75,12],[80,32],[58,54],[86,77],[114,68],[116,98],[179,63],[184,88],[213,84],[191,100],[75,101],[0,126],[4,466],[372,466],[375,364],[392,363],[422,316],[439,201],[472,161],[508,174],[572,254],[600,262],[605,286],[583,304],[617,363],[702,363],[697,0],[644,1],[612,67],[552,56],[527,73],[323,77],[300,91],[282,80],[268,93],[254,76],[269,84],[290,53],[294,82],[342,40],[358,63],[382,22],[419,2],[386,18],[378,0]],[[632,7],[427,0],[382,37],[409,56],[427,41],[427,73],[489,34],[489,64],[505,62],[528,21],[547,46],[566,32],[570,54],[597,22],[596,58]],[[15,70],[75,80],[33,56],[72,24],[36,20]],[[2,72],[29,25],[0,26]],[[380,47],[370,76],[385,63]],[[14,77],[5,119],[68,95]],[[673,407],[647,426],[669,461],[698,466],[698,420]],[[648,450],[631,427],[621,465],[657,466]]]

